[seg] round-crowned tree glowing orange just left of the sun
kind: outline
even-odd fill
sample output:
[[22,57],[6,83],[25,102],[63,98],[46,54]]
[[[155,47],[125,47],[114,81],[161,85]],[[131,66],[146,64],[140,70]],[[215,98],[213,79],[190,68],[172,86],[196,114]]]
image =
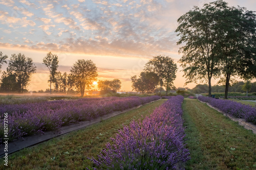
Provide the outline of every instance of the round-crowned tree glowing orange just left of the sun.
[[98,76],[97,67],[92,60],[78,60],[70,71],[74,76],[75,84],[81,96],[84,95],[86,89],[90,90],[92,88],[93,82],[96,81]]

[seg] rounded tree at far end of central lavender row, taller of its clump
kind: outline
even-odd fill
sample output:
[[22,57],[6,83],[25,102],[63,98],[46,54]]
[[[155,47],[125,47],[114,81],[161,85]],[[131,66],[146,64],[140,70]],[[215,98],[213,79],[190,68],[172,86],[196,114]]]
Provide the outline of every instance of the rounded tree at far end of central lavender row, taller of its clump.
[[[162,86],[166,83],[166,88],[172,85],[176,78],[177,65],[173,59],[168,56],[155,56],[153,59],[145,64],[144,70],[146,72],[155,72],[159,78],[160,95],[162,94]],[[167,90],[166,90],[167,91]]]

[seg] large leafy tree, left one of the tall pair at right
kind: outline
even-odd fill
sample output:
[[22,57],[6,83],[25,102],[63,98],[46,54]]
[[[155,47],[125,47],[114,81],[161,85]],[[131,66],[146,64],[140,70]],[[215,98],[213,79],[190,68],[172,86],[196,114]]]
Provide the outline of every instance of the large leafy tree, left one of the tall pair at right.
[[183,54],[179,62],[186,78],[185,84],[206,80],[209,96],[212,77],[220,76],[216,51],[223,34],[221,28],[226,27],[220,16],[226,7],[222,1],[205,4],[202,9],[196,6],[178,19],[179,26],[176,29],[180,36],[177,44],[185,43],[179,50]]

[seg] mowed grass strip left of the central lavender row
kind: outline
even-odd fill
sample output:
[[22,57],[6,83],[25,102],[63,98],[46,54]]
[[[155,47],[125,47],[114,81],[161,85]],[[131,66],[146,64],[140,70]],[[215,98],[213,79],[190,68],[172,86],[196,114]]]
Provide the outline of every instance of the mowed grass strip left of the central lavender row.
[[[8,157],[9,169],[85,169],[92,167],[88,157],[97,158],[111,137],[115,138],[122,125],[129,125],[131,120],[142,119],[150,115],[156,107],[166,100],[156,101],[138,109],[103,120],[86,129],[71,132],[49,141],[13,153]],[[0,159],[0,169],[4,166]]]

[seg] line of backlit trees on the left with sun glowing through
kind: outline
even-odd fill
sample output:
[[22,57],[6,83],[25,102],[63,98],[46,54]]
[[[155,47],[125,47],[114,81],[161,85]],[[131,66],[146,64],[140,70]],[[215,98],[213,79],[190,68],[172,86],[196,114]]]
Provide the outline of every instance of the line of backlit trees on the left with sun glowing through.
[[[2,65],[7,63],[7,55],[3,55],[0,52],[0,71]],[[47,53],[46,57],[42,60],[42,64],[45,64],[49,69],[49,92],[68,92],[68,93],[80,93],[81,96],[84,93],[89,92],[93,85],[93,82],[97,80],[98,72],[95,63],[92,60],[77,60],[70,69],[70,74],[57,71],[58,68],[58,56]],[[33,60],[26,57],[24,54],[12,54],[8,63],[6,71],[3,71],[0,91],[1,92],[18,92],[23,93],[28,91],[26,88],[29,85],[32,74],[36,72],[36,66]],[[104,87],[103,87],[104,84]],[[53,86],[53,89],[52,89]],[[121,88],[121,81],[114,79],[113,81],[99,81],[100,90],[112,90],[117,91]],[[46,90],[48,91],[48,89]],[[39,90],[43,92],[43,90]]]

